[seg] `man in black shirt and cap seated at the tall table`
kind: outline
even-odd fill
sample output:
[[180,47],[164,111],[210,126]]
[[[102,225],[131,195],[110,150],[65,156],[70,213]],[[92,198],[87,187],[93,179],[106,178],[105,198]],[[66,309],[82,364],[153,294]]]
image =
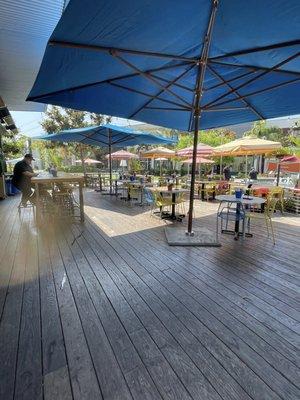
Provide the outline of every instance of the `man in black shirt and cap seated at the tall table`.
[[32,154],[25,154],[23,160],[17,162],[14,167],[12,184],[22,192],[23,206],[26,206],[28,200],[34,203],[31,178],[38,176],[38,174],[33,172],[31,166],[32,160],[34,160]]

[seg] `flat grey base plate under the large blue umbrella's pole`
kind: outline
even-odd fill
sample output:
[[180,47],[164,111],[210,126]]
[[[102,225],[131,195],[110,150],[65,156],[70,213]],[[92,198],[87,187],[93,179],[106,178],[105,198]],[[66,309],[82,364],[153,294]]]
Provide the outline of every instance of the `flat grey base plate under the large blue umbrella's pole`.
[[206,228],[197,228],[193,235],[186,233],[186,228],[167,227],[165,235],[169,246],[220,247],[216,235]]

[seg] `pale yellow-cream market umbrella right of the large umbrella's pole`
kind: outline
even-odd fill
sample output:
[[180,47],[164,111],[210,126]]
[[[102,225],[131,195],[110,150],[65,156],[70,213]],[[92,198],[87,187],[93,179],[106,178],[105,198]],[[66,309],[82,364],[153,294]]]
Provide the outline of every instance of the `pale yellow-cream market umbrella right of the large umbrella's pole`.
[[273,142],[271,140],[265,140],[260,138],[254,138],[251,136],[245,136],[240,139],[233,140],[217,146],[214,148],[214,156],[245,156],[246,157],[246,170],[245,175],[247,177],[247,158],[248,156],[256,156],[260,154],[270,154],[276,150],[282,148],[280,142]]

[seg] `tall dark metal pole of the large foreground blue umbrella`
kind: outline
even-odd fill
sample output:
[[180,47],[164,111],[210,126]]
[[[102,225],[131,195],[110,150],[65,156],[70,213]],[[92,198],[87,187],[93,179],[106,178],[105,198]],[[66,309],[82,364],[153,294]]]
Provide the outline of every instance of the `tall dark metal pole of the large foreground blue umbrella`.
[[193,236],[193,209],[194,209],[194,195],[195,195],[195,174],[196,174],[196,164],[197,164],[197,144],[199,136],[199,119],[201,116],[200,101],[203,94],[203,83],[205,77],[205,71],[207,66],[207,59],[209,53],[209,46],[212,38],[213,26],[215,22],[216,12],[218,8],[218,0],[214,0],[212,4],[212,10],[210,14],[210,19],[208,23],[207,33],[205,36],[205,41],[202,49],[201,59],[198,63],[198,74],[195,89],[195,101],[194,101],[194,141],[193,141],[193,162],[192,162],[192,176],[191,176],[191,191],[190,191],[190,206],[189,206],[189,217],[188,217],[188,229],[186,234]]

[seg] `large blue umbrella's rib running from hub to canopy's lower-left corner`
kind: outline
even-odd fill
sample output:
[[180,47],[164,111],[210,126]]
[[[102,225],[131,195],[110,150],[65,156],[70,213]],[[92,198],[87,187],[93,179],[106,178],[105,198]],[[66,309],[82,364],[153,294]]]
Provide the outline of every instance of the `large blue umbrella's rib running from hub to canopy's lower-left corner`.
[[[168,70],[168,69],[174,69],[174,68],[177,68],[177,67],[182,67],[182,66],[185,66],[185,65],[189,65],[189,63],[182,62],[182,63],[175,64],[175,65],[164,65],[162,67],[149,69],[149,70],[147,70],[145,72],[147,72],[147,73],[159,72],[159,71],[164,71],[164,70]],[[54,95],[57,95],[57,94],[60,94],[60,93],[64,93],[64,92],[67,92],[67,91],[86,89],[88,87],[101,85],[101,84],[105,84],[105,83],[111,83],[111,82],[119,81],[119,80],[122,80],[122,79],[134,78],[134,77],[139,76],[139,75],[140,75],[139,73],[127,74],[127,75],[122,75],[122,76],[118,76],[118,77],[115,77],[115,78],[105,79],[103,81],[85,83],[83,85],[72,86],[70,88],[60,89],[60,90],[56,90],[54,92],[48,92],[48,93],[45,93],[45,94],[42,94],[42,95],[38,95],[38,96],[28,96],[26,100],[27,101],[34,101],[34,100],[42,99],[44,97],[54,96]]]

